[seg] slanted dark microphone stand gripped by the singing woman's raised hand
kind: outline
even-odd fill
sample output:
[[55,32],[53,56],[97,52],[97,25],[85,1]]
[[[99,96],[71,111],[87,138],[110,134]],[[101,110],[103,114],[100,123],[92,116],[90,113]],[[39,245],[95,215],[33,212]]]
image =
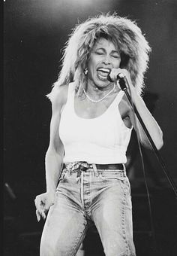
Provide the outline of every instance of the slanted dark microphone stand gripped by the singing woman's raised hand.
[[148,133],[148,130],[147,130],[146,126],[145,126],[145,123],[143,122],[142,118],[140,117],[140,114],[139,114],[139,112],[137,111],[136,106],[135,106],[135,105],[133,104],[133,102],[131,101],[130,94],[127,92],[127,86],[126,86],[126,83],[125,83],[125,81],[124,81],[124,78],[118,77],[118,81],[119,81],[121,90],[124,91],[125,95],[127,96],[128,101],[130,102],[131,107],[134,109],[134,112],[135,112],[135,114],[136,114],[136,117],[138,118],[139,123],[141,124],[142,129],[143,129],[144,132],[145,132],[145,135],[148,137],[148,141],[149,141],[150,144],[151,144],[151,148],[153,148],[154,154],[156,155],[157,160],[159,160],[160,165],[161,165],[161,167],[162,167],[162,169],[163,169],[163,172],[165,173],[165,175],[166,175],[166,177],[167,177],[167,179],[168,179],[168,181],[169,181],[169,184],[171,184],[171,186],[172,186],[172,189],[173,189],[173,191],[174,191],[174,193],[175,193],[175,197],[177,197],[177,188],[176,188],[176,186],[175,186],[175,182],[173,181],[171,175],[169,175],[169,172],[168,172],[167,169],[166,169],[165,163],[163,162],[162,157],[160,156],[159,152],[157,151],[157,148],[156,148],[156,146],[154,145],[154,142],[153,142],[153,140],[151,139],[151,136],[150,136],[150,134]]

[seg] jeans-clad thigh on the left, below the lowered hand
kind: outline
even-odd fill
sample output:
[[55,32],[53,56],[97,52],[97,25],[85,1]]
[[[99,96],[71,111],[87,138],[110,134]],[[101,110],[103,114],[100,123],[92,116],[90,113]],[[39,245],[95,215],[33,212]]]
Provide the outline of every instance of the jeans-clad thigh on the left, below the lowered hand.
[[75,255],[86,234],[87,221],[69,197],[56,192],[40,242],[40,256]]

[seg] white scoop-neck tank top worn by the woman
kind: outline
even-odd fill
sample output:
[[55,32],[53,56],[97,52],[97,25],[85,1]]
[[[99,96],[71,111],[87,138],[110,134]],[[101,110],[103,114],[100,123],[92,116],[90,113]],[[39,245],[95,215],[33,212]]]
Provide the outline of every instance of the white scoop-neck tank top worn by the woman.
[[124,125],[118,110],[123,95],[120,90],[104,114],[87,119],[76,114],[75,84],[69,84],[68,99],[59,125],[59,136],[65,148],[64,163],[126,163],[132,129]]

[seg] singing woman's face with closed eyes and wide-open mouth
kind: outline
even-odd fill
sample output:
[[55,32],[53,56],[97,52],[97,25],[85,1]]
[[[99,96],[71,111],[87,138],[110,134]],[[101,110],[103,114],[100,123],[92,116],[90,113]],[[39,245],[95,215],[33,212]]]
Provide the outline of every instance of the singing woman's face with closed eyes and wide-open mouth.
[[118,69],[121,62],[120,53],[113,42],[99,38],[91,50],[88,62],[88,84],[107,87],[110,81],[107,75],[112,69]]

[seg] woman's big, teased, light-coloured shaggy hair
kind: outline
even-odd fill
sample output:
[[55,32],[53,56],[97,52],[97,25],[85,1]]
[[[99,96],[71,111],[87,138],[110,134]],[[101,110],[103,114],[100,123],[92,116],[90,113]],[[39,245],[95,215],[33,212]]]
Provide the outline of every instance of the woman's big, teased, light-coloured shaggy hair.
[[121,53],[121,68],[130,72],[133,86],[137,93],[142,93],[144,73],[148,67],[148,53],[151,50],[148,41],[135,21],[119,17],[117,14],[101,14],[89,18],[73,30],[63,52],[62,70],[53,84],[51,93],[47,95],[50,100],[55,96],[58,87],[72,81],[76,82],[77,94],[83,92],[87,81],[84,69],[90,50],[102,36],[113,41],[118,47]]

